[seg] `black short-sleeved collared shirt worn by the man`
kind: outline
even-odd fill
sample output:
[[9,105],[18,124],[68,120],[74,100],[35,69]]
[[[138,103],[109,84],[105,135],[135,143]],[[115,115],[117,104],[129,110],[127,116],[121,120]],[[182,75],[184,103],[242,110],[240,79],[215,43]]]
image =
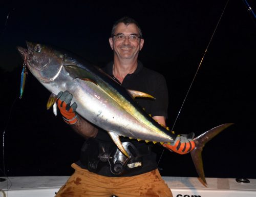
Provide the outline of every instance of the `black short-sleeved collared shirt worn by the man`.
[[[102,70],[114,78],[113,62],[110,62]],[[135,98],[135,100],[141,107],[145,109],[146,113],[151,114],[152,116],[164,116],[167,118],[168,90],[163,75],[143,67],[143,64],[139,61],[138,67],[135,70],[135,72],[132,74],[127,74],[121,86],[123,86],[126,89],[144,92],[153,96],[155,99],[137,97]],[[114,142],[110,138],[109,134],[101,128],[99,128],[99,132],[96,136],[96,139],[112,143],[114,145]],[[130,141],[136,147],[146,147],[152,145],[152,143],[146,143],[145,141],[138,142],[136,139],[130,140],[129,138],[125,137],[120,137],[120,140],[122,142]],[[156,154],[154,152],[151,152],[150,155],[143,156],[142,160],[142,167],[135,167],[133,170],[126,171],[121,175],[115,175],[111,173],[108,166],[108,162],[106,162],[105,166],[102,169],[100,169],[97,172],[97,174],[108,177],[134,176],[157,168]],[[77,164],[82,168],[86,168],[86,166],[83,166],[80,161],[78,161]]]

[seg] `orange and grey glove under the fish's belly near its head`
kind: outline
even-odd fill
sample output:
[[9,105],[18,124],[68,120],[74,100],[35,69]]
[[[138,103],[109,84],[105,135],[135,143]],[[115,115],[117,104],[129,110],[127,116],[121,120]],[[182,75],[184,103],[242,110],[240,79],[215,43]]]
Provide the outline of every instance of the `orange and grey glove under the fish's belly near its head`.
[[75,124],[77,122],[77,115],[75,113],[77,104],[73,103],[70,105],[72,98],[73,95],[68,91],[60,91],[56,101],[63,120],[68,124]]

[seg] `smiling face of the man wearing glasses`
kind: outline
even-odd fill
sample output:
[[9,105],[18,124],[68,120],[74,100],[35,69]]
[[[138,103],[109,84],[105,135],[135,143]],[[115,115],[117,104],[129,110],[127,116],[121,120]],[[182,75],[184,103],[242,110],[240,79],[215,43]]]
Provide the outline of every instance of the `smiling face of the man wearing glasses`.
[[121,59],[138,58],[139,51],[143,47],[144,39],[131,39],[130,35],[137,35],[139,37],[139,29],[135,24],[124,25],[119,23],[116,26],[114,35],[123,35],[123,40],[119,40],[117,36],[110,38],[110,46],[114,50],[114,54]]

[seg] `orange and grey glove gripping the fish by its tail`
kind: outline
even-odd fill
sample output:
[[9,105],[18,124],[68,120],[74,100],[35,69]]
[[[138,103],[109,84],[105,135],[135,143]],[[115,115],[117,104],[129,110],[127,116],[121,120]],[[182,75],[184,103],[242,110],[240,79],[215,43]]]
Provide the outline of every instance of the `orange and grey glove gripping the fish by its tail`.
[[164,143],[163,146],[170,151],[177,152],[178,154],[187,154],[196,146],[195,142],[191,139],[194,138],[194,135],[194,133],[189,135],[179,135],[172,144]]

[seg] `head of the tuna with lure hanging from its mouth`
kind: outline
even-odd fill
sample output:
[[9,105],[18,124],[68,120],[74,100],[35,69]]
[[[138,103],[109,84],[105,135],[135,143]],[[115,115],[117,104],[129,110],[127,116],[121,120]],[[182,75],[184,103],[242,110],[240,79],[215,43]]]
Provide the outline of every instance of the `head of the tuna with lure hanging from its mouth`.
[[27,42],[28,49],[17,47],[30,72],[41,82],[49,83],[59,75],[64,54],[40,43]]

